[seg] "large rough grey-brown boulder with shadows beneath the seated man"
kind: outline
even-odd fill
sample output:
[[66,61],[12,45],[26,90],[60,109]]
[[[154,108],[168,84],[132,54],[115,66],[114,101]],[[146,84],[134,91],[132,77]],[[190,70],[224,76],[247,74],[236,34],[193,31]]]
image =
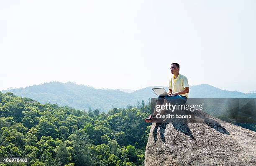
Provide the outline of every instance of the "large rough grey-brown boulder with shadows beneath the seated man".
[[153,123],[145,166],[256,166],[256,132],[204,116],[203,123]]

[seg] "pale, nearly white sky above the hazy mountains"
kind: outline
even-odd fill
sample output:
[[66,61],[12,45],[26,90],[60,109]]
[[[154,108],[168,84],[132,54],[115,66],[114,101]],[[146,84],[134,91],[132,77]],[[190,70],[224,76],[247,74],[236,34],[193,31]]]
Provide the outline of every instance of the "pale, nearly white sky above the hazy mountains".
[[255,0],[0,0],[0,89],[189,85],[256,90]]

